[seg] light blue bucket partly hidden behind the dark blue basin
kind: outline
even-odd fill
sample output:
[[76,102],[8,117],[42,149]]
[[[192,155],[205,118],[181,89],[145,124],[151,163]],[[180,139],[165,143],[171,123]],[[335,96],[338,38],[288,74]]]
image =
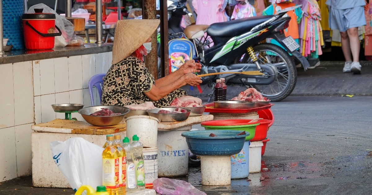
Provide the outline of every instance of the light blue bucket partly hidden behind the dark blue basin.
[[231,155],[231,179],[247,178],[249,175],[249,145],[244,142],[243,149],[236,155]]

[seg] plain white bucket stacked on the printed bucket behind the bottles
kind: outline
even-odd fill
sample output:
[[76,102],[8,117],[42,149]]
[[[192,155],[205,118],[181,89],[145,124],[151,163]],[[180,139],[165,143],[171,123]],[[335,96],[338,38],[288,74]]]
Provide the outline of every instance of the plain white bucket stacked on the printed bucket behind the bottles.
[[131,116],[126,118],[126,137],[132,140],[132,136],[140,137],[144,147],[157,147],[158,122],[155,117]]

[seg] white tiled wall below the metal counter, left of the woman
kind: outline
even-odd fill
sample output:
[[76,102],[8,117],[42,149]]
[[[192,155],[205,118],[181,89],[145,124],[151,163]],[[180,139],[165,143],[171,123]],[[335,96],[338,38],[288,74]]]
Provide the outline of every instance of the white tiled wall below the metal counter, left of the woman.
[[65,117],[51,104],[91,106],[88,81],[111,61],[106,52],[0,65],[0,182],[31,174],[31,126]]

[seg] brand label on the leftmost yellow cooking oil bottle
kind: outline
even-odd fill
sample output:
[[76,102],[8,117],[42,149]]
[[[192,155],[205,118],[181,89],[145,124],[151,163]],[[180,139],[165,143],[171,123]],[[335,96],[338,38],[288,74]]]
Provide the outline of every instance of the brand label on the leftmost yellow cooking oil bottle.
[[102,185],[106,188],[117,188],[119,186],[119,158],[102,159]]

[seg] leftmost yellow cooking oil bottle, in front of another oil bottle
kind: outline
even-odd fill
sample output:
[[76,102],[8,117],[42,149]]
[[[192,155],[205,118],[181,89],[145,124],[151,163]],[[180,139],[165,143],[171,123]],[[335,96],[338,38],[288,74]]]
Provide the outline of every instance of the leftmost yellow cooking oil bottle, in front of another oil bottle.
[[109,195],[116,195],[119,188],[119,151],[114,144],[114,137],[107,137],[107,146],[102,152],[102,185]]

